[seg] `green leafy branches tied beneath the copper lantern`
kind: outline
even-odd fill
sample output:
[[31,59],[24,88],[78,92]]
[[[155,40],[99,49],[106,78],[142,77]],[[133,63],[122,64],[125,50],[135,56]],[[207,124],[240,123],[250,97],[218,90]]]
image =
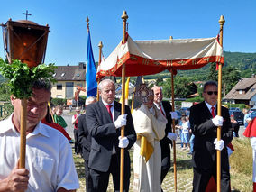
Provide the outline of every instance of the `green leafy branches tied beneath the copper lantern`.
[[13,60],[12,64],[6,63],[0,58],[0,73],[3,77],[9,79],[8,86],[11,94],[16,98],[25,99],[32,96],[32,84],[39,78],[49,79],[56,82],[53,78],[54,64],[41,64],[30,69],[27,64],[20,60]]

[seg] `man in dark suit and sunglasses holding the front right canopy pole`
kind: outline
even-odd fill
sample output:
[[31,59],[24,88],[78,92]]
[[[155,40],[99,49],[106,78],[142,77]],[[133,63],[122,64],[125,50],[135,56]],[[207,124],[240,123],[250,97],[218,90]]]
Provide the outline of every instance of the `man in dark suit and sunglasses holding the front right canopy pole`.
[[[228,109],[222,106],[222,116],[216,115],[217,84],[208,81],[204,85],[205,101],[190,108],[190,125],[195,135],[193,149],[193,191],[204,191],[209,179],[216,180],[216,150],[221,151],[221,191],[229,191],[230,173],[226,145],[233,139]],[[222,126],[221,140],[216,139],[217,126]]]

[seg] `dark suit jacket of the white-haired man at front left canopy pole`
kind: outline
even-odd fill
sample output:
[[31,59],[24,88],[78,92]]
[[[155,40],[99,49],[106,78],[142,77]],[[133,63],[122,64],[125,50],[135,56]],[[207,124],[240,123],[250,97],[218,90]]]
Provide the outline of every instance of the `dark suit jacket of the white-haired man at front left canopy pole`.
[[[120,114],[121,104],[114,102],[114,121]],[[132,114],[127,105],[125,105],[125,114],[127,114],[127,123],[124,128],[124,135],[129,140],[129,145],[124,149],[124,169],[129,168],[126,171],[130,171],[128,150],[136,141],[136,133],[133,127]],[[121,135],[120,128],[115,129],[114,122],[101,100],[87,106],[86,123],[92,137],[89,168],[106,172],[111,162],[113,146],[115,147],[118,162],[120,162],[120,148],[118,147],[118,137]]]

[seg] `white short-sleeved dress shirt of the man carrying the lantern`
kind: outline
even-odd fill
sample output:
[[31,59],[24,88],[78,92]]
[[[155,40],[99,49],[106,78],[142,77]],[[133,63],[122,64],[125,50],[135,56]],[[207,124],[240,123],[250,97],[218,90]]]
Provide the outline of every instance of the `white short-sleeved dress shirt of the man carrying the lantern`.
[[[0,122],[0,180],[12,172],[20,156],[20,133],[14,128],[12,116]],[[38,123],[26,135],[25,168],[30,172],[26,192],[79,188],[69,142],[62,133],[44,123]]]

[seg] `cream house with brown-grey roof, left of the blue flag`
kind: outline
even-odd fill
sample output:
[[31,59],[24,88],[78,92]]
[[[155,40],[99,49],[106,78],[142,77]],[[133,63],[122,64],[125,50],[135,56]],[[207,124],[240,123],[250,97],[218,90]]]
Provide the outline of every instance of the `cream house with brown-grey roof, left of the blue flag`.
[[[78,66],[57,66],[53,77],[57,80],[52,85],[52,98],[72,99],[75,96],[77,87],[86,87],[86,63],[79,62]],[[86,96],[86,92],[81,91],[79,96]]]

